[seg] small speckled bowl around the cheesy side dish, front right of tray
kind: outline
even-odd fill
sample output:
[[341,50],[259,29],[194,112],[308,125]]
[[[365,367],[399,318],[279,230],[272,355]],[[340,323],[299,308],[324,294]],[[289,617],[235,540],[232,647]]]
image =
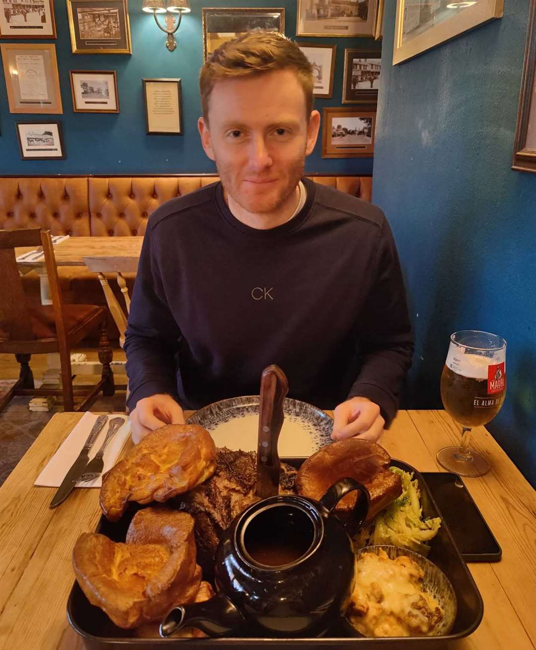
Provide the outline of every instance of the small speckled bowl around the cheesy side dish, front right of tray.
[[[407,555],[411,560],[414,560],[423,570],[424,577],[422,582],[422,589],[429,593],[433,598],[436,599],[439,606],[444,612],[444,619],[438,625],[433,636],[444,636],[450,632],[454,625],[457,614],[457,600],[454,589],[451,585],[450,580],[446,575],[437,567],[433,562],[427,560],[427,558],[422,555],[409,551],[408,549],[400,549],[396,546],[387,546],[387,545],[377,545],[377,546],[368,546],[364,549],[359,549],[356,551],[356,560],[362,556],[363,553],[375,553],[378,554],[379,549],[383,549],[390,560],[394,560],[399,555]],[[349,623],[349,621],[348,621]],[[351,625],[351,623],[349,623]],[[356,634],[360,634],[356,631]]]

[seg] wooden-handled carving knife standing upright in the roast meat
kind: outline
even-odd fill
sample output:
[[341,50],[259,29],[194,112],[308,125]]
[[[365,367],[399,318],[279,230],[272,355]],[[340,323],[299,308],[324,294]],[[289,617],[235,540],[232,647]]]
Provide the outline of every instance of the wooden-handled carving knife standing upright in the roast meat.
[[276,365],[265,368],[261,375],[255,487],[255,494],[261,499],[279,493],[281,463],[277,441],[285,419],[283,402],[287,393],[288,380],[283,370]]

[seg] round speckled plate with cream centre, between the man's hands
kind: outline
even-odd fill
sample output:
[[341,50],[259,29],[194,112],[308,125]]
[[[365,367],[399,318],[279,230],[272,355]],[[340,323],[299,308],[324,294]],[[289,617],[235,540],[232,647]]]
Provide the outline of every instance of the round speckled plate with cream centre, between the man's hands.
[[[299,400],[286,398],[285,419],[279,434],[281,458],[310,456],[332,442],[333,420],[324,411]],[[259,396],[233,397],[199,409],[188,418],[212,435],[217,447],[257,450]]]

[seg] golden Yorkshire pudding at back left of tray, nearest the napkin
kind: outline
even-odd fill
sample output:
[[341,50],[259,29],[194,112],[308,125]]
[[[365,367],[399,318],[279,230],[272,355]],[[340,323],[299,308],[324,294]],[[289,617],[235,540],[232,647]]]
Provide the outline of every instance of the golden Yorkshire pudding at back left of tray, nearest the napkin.
[[167,501],[212,476],[216,447],[199,424],[167,424],[146,435],[103,475],[102,512],[118,521],[128,501]]

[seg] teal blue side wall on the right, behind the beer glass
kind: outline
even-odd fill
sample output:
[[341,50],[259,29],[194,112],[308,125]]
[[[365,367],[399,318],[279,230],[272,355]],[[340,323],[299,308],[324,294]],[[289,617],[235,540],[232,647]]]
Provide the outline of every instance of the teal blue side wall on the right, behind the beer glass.
[[407,405],[438,408],[452,331],[507,339],[507,396],[488,428],[536,486],[536,174],[511,159],[529,0],[392,66],[386,2],[374,202],[394,229],[416,335]]

